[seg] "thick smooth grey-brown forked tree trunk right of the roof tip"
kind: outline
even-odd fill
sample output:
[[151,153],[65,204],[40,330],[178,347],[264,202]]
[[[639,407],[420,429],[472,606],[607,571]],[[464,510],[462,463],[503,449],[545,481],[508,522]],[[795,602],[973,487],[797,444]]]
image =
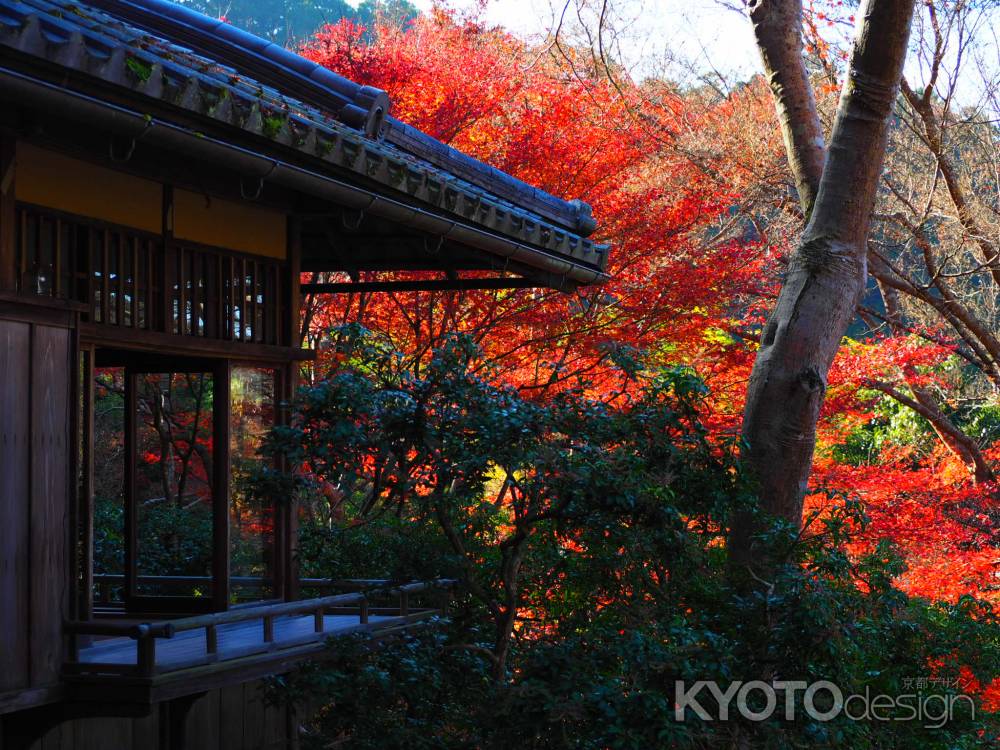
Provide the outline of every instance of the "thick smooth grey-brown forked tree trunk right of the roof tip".
[[[869,0],[863,5],[821,174],[815,174],[815,159],[789,154],[796,182],[818,188],[811,210],[800,190],[808,223],[754,362],[743,439],[747,466],[759,483],[761,509],[795,525],[802,520],[827,373],[865,288],[868,227],[913,6],[914,0]],[[761,32],[770,28],[772,18],[780,24],[800,23],[801,0],[759,0],[751,4],[750,13],[765,65],[784,60],[787,55],[779,57],[771,49],[776,35]],[[781,37],[783,43],[788,38]],[[798,43],[801,56],[801,37]],[[786,68],[784,73],[784,90],[809,86],[804,67]],[[770,72],[769,77],[773,86]],[[796,132],[812,128],[798,120],[816,119],[815,107],[793,108],[790,97],[782,96],[775,97],[775,104],[785,143],[801,148]],[[733,519],[730,547],[735,562],[752,560],[754,529],[749,514]]]

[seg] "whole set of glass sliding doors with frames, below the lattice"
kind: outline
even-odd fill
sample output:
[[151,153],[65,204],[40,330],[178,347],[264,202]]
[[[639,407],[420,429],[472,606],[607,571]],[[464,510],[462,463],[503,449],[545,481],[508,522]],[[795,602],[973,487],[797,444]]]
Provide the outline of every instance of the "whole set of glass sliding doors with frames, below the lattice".
[[93,605],[184,615],[280,598],[281,519],[253,491],[280,370],[97,350]]

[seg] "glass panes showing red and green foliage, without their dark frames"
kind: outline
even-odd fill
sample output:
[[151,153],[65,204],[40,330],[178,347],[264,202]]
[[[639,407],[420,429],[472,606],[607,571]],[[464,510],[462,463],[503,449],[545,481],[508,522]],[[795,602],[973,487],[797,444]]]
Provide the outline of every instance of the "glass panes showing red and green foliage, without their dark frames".
[[[138,368],[137,368],[138,369]],[[264,436],[275,422],[277,370],[231,368],[230,411],[217,408],[211,372],[149,372],[95,368],[93,381],[93,572],[97,608],[126,603],[126,505],[134,509],[134,594],[208,598],[216,552],[213,504],[225,502],[229,521],[231,604],[278,595],[275,513],[253,496]],[[131,385],[129,385],[131,383]],[[130,401],[129,388],[134,388]],[[135,413],[128,412],[129,403]],[[135,424],[134,454],[126,449]],[[216,496],[216,419],[229,419],[229,497]],[[135,466],[134,496],[126,463]],[[149,602],[134,602],[147,606]],[[130,605],[132,606],[132,605]],[[177,606],[183,609],[183,605]],[[182,611],[178,609],[177,611]]]

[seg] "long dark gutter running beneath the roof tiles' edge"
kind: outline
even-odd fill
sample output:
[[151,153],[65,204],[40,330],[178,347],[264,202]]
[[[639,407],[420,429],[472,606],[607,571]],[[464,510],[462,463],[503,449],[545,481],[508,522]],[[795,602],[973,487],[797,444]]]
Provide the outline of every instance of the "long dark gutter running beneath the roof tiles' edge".
[[10,68],[0,67],[0,89],[6,98],[18,103],[34,104],[74,114],[88,123],[106,127],[137,143],[140,141],[153,143],[236,169],[247,180],[273,182],[352,210],[379,216],[523,264],[539,272],[539,286],[572,291],[580,285],[601,284],[610,279],[609,274],[596,268],[500,237],[461,220],[446,218],[407,205],[359,185],[352,185],[257,151],[196,133],[165,120],[61,88]]

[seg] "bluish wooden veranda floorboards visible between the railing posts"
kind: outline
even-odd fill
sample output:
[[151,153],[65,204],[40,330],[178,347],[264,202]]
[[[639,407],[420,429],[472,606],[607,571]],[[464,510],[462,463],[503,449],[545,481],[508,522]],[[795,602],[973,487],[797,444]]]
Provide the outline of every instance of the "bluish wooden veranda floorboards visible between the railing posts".
[[[393,619],[397,618],[372,615],[370,622],[376,624]],[[359,624],[357,615],[325,615],[323,622],[324,637],[357,629]],[[281,648],[283,644],[301,643],[315,635],[312,615],[275,618],[273,647]],[[264,641],[263,626],[259,620],[235,622],[218,627],[217,658],[219,661],[236,659],[271,647]],[[156,642],[157,672],[184,669],[192,663],[204,659],[206,653],[204,628],[178,633],[173,638],[158,639]],[[91,646],[80,649],[79,661],[81,666],[87,664],[135,665],[136,642],[131,638],[109,638],[98,641]]]

